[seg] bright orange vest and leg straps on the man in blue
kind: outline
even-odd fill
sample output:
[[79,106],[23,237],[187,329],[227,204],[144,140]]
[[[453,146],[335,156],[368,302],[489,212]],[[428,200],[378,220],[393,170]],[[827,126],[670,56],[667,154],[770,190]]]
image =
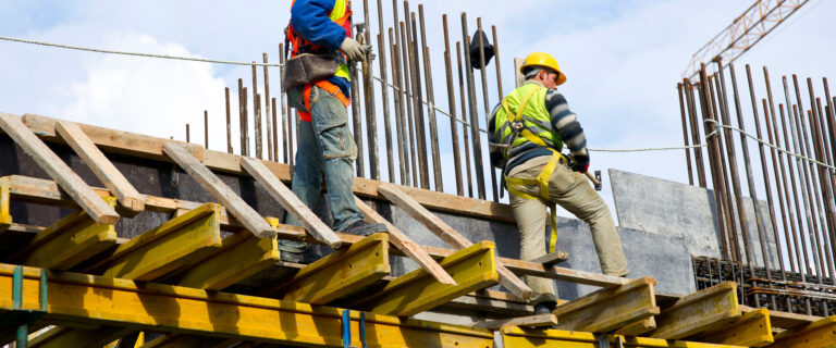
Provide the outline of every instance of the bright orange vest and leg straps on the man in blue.
[[[293,11],[293,5],[296,3],[296,0],[293,0],[291,3],[291,11]],[[342,5],[342,7],[340,7]],[[342,8],[342,9],[339,9]],[[339,24],[340,26],[345,29],[345,35],[347,37],[352,37],[352,8],[351,8],[351,1],[347,0],[335,0],[334,1],[334,8],[331,9],[331,12],[329,12],[329,17],[334,13],[334,10],[343,10],[343,15],[339,18],[331,18],[334,23]],[[307,53],[307,52],[323,52],[323,51],[331,51],[329,48],[316,45],[314,42],[308,41],[300,35],[296,33],[296,29],[293,27],[293,24],[287,24],[287,40],[293,45],[293,50],[291,51],[291,57],[296,57],[300,53]],[[336,97],[336,99],[340,99],[340,101],[345,105],[346,108],[348,104],[351,104],[351,100],[346,98],[346,96],[343,94],[342,90],[340,90],[340,87],[336,85],[325,80],[320,79],[315,83],[306,84],[303,89],[303,99],[305,102],[305,108],[310,110],[310,89],[311,86],[317,86],[319,88],[324,89],[329,94]],[[311,121],[311,115],[309,112],[299,111],[299,119],[302,121]]]

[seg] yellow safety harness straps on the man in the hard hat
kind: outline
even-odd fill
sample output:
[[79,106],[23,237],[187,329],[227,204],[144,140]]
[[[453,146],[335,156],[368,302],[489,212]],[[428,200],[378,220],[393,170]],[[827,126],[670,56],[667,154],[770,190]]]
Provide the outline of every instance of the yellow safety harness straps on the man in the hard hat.
[[[511,124],[512,132],[514,133],[514,136],[511,137],[511,142],[506,144],[507,150],[505,152],[505,156],[507,157],[507,153],[511,152],[511,149],[514,147],[514,142],[517,139],[517,136],[522,136],[528,141],[531,141],[533,144],[537,144],[539,146],[545,147],[549,150],[552,151],[552,158],[549,160],[549,163],[545,164],[543,167],[543,171],[540,172],[540,175],[538,175],[536,178],[519,178],[519,177],[508,177],[507,174],[504,174],[505,183],[508,188],[508,192],[524,198],[524,199],[537,199],[543,202],[544,204],[549,206],[549,210],[551,211],[550,217],[552,223],[552,233],[551,236],[549,236],[549,252],[554,252],[556,245],[557,245],[557,209],[556,204],[551,201],[549,198],[549,178],[552,177],[552,173],[554,173],[554,169],[557,167],[558,163],[568,163],[568,160],[566,157],[563,156],[560,151],[549,147],[545,141],[538,136],[537,134],[529,130],[522,121],[522,113],[526,110],[526,105],[528,105],[528,99],[531,98],[531,96],[537,92],[538,89],[533,88],[528,94],[526,94],[525,97],[522,97],[522,101],[519,104],[519,109],[517,109],[517,113],[514,114],[511,112],[511,108],[508,108],[508,101],[507,97],[502,100],[502,108],[505,110],[505,113],[508,116],[508,123]],[[531,196],[529,194],[526,194],[521,191],[518,186],[539,186],[540,187],[540,196]]]

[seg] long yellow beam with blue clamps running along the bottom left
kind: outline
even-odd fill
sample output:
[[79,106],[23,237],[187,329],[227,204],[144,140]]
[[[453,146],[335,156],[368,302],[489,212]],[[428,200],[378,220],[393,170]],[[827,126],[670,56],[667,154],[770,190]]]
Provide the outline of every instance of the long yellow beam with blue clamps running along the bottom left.
[[[0,311],[13,309],[13,272],[14,265],[0,264]],[[24,268],[23,273],[22,309],[39,309],[40,270]],[[73,320],[275,345],[342,347],[342,310],[337,308],[71,272],[49,273],[48,283],[47,313],[40,322]],[[355,347],[361,346],[359,316],[352,312]],[[366,313],[366,335],[370,347],[489,348],[493,344],[488,330],[373,313]]]

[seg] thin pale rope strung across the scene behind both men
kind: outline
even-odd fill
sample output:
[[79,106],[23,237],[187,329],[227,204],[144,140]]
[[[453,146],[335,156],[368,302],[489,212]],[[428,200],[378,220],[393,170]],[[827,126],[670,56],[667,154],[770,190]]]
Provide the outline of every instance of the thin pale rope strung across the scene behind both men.
[[[108,54],[120,54],[120,55],[143,57],[143,58],[181,60],[181,61],[212,63],[212,64],[245,65],[245,66],[256,65],[256,66],[272,66],[272,67],[284,66],[284,64],[281,64],[281,63],[257,63],[255,61],[254,62],[236,62],[236,61],[224,61],[224,60],[196,58],[196,57],[182,57],[182,55],[171,55],[171,54],[156,54],[156,53],[144,53],[144,52],[106,50],[106,49],[89,48],[89,47],[82,47],[82,46],[72,46],[72,45],[62,45],[62,44],[52,44],[52,42],[45,42],[45,41],[20,39],[20,38],[13,38],[13,37],[8,37],[8,36],[0,36],[0,40],[12,41],[12,42],[20,42],[20,44],[39,45],[39,46],[53,47],[53,48],[63,48],[63,49],[77,50],[77,51],[96,52],[96,53],[108,53]],[[358,70],[360,70],[360,69],[358,69]],[[388,87],[390,87],[390,88],[392,88],[394,90],[401,91],[401,88],[397,88],[397,86],[394,86],[394,85],[390,84],[389,82],[383,80],[382,78],[380,78],[378,76],[373,76],[372,75],[372,77],[374,79],[379,80],[381,84],[383,84],[383,85],[385,85],[385,86],[388,86]],[[403,92],[405,95],[409,96],[413,99],[417,99],[416,96],[414,96],[411,94],[408,94],[406,91],[403,91]],[[440,112],[441,114],[446,115],[447,117],[454,119],[456,122],[462,123],[465,126],[468,126],[468,127],[472,128],[472,126],[469,123],[467,123],[467,122],[465,122],[463,120],[458,120],[457,117],[453,117],[452,114],[447,113],[444,110],[439,109],[434,104],[432,104],[430,102],[427,102],[425,100],[420,100],[420,102],[426,104],[427,107],[432,108],[433,110]],[[718,122],[716,122],[714,120],[705,120],[705,122],[714,123],[716,127],[728,128],[728,129],[738,132],[740,134],[743,134],[745,136],[750,137],[750,138],[754,139],[755,141],[758,141],[760,144],[766,145],[766,146],[769,146],[769,147],[771,147],[773,149],[776,149],[776,150],[778,150],[780,152],[784,152],[784,153],[786,153],[788,156],[791,156],[791,157],[795,157],[795,158],[798,158],[798,159],[801,159],[801,160],[804,160],[804,161],[808,161],[808,162],[812,162],[812,163],[819,164],[821,166],[824,166],[824,167],[827,167],[827,169],[831,169],[831,170],[836,170],[836,166],[828,165],[826,163],[816,161],[814,159],[801,156],[799,153],[790,152],[790,151],[784,150],[782,148],[778,148],[778,147],[776,147],[774,145],[767,144],[766,141],[761,140],[760,138],[758,138],[758,137],[755,137],[755,136],[753,136],[753,135],[751,135],[749,133],[746,133],[742,129],[739,129],[739,128],[736,128],[736,127],[733,127],[733,126],[727,126],[727,125],[720,124]],[[488,133],[485,129],[481,129],[481,128],[479,128],[479,132],[482,132],[482,133],[485,133],[485,134]],[[709,139],[710,137],[712,137],[712,136],[714,136],[716,134],[717,134],[717,130],[714,130],[713,133],[708,134],[705,136],[705,139]],[[589,148],[588,150],[589,151],[595,151],[595,152],[647,152],[647,151],[686,150],[686,149],[702,148],[702,147],[706,147],[706,146],[708,146],[708,144],[690,145],[690,146],[659,147],[659,148],[636,148],[636,149],[593,149],[593,148]]]

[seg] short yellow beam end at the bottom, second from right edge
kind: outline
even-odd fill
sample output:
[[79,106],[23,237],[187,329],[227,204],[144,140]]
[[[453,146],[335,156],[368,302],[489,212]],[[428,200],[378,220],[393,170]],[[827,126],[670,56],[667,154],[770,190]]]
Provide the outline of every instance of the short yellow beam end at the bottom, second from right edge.
[[750,311],[735,322],[688,339],[745,347],[765,347],[775,341],[770,310],[765,308]]

